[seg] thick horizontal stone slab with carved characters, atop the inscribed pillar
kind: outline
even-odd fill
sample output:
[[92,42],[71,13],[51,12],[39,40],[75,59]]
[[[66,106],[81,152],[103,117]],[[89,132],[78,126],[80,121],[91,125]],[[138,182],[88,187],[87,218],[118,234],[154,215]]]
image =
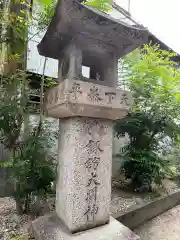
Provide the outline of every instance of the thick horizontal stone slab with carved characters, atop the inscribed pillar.
[[130,92],[78,80],[64,80],[50,89],[46,97],[49,116],[86,116],[116,120],[132,106]]

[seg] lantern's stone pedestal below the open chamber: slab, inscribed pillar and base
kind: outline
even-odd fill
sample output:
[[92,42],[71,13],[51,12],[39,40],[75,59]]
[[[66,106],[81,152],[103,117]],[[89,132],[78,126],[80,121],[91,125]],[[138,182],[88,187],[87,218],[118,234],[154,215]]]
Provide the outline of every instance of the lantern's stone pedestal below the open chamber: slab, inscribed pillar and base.
[[110,218],[113,120],[131,106],[128,92],[64,80],[46,101],[60,119],[56,214],[32,225],[38,239],[138,239]]

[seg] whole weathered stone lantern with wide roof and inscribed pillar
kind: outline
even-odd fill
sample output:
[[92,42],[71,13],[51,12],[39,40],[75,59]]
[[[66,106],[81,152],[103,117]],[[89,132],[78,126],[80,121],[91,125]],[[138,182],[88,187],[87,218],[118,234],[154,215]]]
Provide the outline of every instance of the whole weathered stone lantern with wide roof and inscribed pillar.
[[[110,217],[113,121],[130,111],[130,92],[116,89],[118,59],[146,42],[147,32],[76,0],[59,0],[38,45],[59,61],[58,85],[46,95],[60,119],[56,213],[32,223],[37,239],[138,239]],[[89,77],[82,74],[89,68]]]

